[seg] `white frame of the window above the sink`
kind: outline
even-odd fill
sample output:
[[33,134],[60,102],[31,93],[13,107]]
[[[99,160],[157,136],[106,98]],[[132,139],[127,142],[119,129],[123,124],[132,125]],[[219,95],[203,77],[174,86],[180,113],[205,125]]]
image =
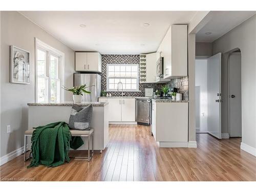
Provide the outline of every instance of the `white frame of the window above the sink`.
[[[106,64],[106,91],[111,91],[111,92],[117,92],[117,89],[109,89],[109,66],[136,66],[137,67],[137,89],[134,90],[134,89],[130,89],[130,90],[127,90],[127,89],[124,89],[123,92],[140,92],[139,91],[139,64]],[[115,77],[114,77],[115,78]],[[128,78],[134,78],[135,77],[122,77],[124,79],[128,79]],[[121,87],[120,87],[121,89]],[[120,90],[119,90],[120,91]]]

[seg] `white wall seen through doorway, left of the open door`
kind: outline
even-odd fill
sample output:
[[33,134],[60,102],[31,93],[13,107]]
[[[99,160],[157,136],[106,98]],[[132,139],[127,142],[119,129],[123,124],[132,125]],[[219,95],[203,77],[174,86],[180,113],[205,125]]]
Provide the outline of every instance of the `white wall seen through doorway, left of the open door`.
[[199,131],[207,131],[207,59],[196,59],[196,86],[200,86]]

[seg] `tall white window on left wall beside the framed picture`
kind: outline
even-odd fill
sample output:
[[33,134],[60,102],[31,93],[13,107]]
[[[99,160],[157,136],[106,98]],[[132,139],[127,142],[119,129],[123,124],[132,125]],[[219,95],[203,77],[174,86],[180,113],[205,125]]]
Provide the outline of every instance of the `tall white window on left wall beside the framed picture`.
[[[60,102],[61,52],[36,41],[36,102]],[[63,97],[63,94],[62,94]]]

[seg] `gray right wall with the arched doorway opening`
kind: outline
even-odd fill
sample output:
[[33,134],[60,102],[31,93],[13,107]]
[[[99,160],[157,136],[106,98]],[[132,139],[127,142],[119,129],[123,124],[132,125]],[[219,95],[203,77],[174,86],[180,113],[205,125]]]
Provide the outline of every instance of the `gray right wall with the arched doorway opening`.
[[229,133],[228,52],[236,48],[242,55],[242,142],[256,148],[256,15],[213,42],[213,54],[222,53],[222,133]]

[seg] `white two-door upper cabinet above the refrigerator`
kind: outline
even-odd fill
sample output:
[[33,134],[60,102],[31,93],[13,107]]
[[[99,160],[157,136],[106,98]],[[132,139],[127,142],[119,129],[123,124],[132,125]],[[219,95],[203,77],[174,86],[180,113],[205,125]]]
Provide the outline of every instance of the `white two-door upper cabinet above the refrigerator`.
[[101,55],[97,52],[76,52],[75,71],[101,73]]

